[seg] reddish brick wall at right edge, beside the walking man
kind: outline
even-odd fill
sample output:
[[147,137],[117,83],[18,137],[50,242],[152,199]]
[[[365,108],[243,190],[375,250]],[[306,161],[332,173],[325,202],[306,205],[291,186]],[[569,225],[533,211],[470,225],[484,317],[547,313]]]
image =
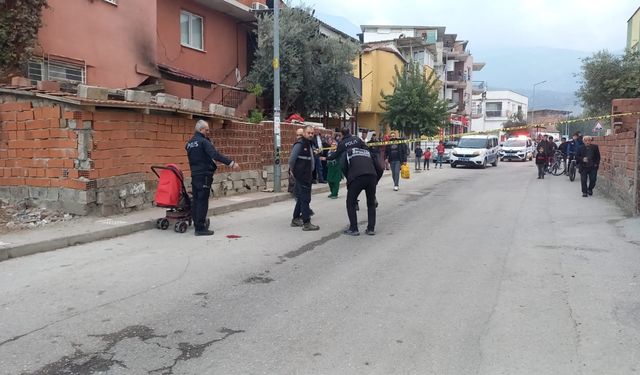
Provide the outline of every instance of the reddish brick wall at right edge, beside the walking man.
[[637,215],[638,205],[638,134],[636,130],[606,137],[594,137],[600,148],[598,185],[621,207]]

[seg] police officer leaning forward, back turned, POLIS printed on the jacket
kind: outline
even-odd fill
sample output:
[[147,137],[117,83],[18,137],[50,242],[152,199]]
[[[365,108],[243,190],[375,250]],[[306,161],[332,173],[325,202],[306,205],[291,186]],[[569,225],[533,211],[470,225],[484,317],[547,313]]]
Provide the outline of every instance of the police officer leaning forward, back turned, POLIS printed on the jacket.
[[346,151],[346,165],[344,167],[347,176],[347,215],[349,216],[349,229],[344,234],[358,236],[358,215],[356,203],[358,195],[364,190],[367,194],[367,230],[366,234],[373,236],[376,227],[376,187],[384,170],[375,160],[366,145],[353,146]]

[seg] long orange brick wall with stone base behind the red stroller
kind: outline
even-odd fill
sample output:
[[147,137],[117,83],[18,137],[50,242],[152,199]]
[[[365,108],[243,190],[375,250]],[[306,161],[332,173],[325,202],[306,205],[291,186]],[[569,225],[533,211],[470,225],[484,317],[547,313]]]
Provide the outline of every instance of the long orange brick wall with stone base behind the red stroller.
[[[0,96],[0,197],[30,198],[77,214],[148,207],[157,177],[151,165],[177,164],[187,177],[184,144],[194,119],[85,108]],[[282,124],[282,186],[298,125]],[[240,163],[219,165],[215,195],[273,187],[273,124],[211,121],[216,148]],[[331,133],[330,131],[327,131]]]

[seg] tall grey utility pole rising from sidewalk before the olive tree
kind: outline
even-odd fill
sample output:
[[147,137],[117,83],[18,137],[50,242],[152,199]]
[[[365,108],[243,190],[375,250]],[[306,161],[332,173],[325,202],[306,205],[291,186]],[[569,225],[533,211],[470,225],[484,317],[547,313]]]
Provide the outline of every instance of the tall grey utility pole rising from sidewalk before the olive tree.
[[280,0],[273,2],[273,191],[281,190],[280,165]]

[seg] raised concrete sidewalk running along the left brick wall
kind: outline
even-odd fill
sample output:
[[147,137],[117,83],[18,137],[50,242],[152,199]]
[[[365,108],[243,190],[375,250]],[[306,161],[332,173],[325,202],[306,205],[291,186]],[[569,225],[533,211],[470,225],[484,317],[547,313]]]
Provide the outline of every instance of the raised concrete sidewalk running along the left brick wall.
[[[329,192],[329,185],[313,185],[312,194],[327,192]],[[289,199],[293,199],[293,197],[286,191],[212,198],[209,201],[208,216],[268,206]],[[0,236],[0,261],[154,229],[156,220],[164,215],[165,209],[154,207],[125,215],[81,217],[50,227],[9,233]],[[167,230],[173,230],[173,227]]]

